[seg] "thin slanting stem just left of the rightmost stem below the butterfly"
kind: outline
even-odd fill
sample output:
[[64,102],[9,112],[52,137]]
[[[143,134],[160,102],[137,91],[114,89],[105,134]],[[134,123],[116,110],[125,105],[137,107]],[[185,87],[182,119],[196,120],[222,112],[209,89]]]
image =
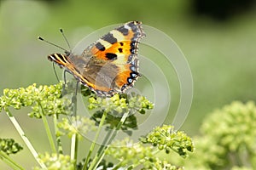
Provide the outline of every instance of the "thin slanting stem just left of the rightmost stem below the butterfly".
[[[96,140],[97,140],[98,137],[99,137],[99,134],[100,134],[100,132],[101,132],[101,130],[102,130],[103,123],[105,122],[106,117],[107,117],[107,111],[104,111],[104,112],[103,112],[103,115],[102,115],[101,122],[100,122],[100,124],[99,124],[99,128],[98,128],[98,130],[97,130],[97,132],[96,132],[96,136],[95,136],[95,138],[94,138],[94,140],[93,140],[93,143],[90,145],[90,150],[89,150],[88,156],[86,157],[86,160],[85,160],[85,162],[84,162],[83,170],[87,169],[87,164],[88,164],[88,162],[89,162],[89,160],[90,160],[90,155],[91,155],[92,151],[93,151],[94,148],[95,148]],[[91,168],[91,166],[90,166],[90,168]],[[90,168],[89,168],[89,169],[90,169]]]

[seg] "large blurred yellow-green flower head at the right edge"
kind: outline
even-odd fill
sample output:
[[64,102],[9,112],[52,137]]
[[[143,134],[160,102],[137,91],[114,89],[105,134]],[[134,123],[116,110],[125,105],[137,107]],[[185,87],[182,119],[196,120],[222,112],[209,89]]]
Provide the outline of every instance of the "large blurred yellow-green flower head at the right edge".
[[[213,111],[194,139],[195,155],[183,165],[200,169],[256,168],[256,105],[235,101]],[[199,159],[200,158],[200,159]]]

